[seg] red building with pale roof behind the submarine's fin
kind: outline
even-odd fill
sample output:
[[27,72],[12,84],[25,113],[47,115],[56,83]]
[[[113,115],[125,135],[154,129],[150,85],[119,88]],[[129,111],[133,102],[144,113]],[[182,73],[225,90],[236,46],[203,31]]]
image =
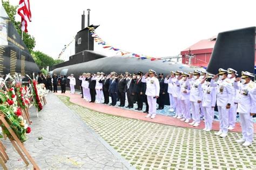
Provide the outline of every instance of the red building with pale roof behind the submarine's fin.
[[215,36],[210,39],[200,40],[196,44],[181,51],[182,63],[192,66],[207,67],[215,41]]

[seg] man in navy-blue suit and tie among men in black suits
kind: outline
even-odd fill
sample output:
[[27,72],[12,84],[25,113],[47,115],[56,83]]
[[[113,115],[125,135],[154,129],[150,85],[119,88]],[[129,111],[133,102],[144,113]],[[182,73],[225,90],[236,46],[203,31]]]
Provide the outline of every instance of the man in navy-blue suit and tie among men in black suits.
[[118,91],[118,79],[117,74],[113,73],[109,82],[109,93],[111,96],[112,103],[110,105],[117,104],[117,91]]

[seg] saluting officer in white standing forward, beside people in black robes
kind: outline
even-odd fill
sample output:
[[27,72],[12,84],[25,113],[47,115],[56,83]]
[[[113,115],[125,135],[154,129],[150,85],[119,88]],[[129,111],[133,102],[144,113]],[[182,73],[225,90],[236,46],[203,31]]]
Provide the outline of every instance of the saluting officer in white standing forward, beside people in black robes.
[[160,93],[160,84],[154,74],[156,74],[156,72],[150,69],[149,73],[146,73],[142,77],[142,82],[146,83],[147,103],[149,103],[149,115],[145,117],[151,117],[152,119],[156,117],[157,98]]

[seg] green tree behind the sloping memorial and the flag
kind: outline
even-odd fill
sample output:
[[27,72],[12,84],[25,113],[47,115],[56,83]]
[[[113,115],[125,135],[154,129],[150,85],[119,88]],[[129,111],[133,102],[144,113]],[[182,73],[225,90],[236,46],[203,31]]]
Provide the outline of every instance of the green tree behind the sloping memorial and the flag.
[[[12,24],[14,24],[15,29],[18,31],[19,35],[21,36],[22,31],[21,31],[21,22],[17,22],[15,20],[15,15],[17,13],[17,8],[18,6],[14,6],[14,5],[10,5],[9,1],[3,1],[2,0],[2,4],[3,7],[6,11],[6,13],[8,14]],[[35,48],[36,46],[36,40],[33,36],[31,36],[28,33],[23,32],[23,41],[26,45],[26,47],[28,47],[29,52],[32,52],[32,49]]]

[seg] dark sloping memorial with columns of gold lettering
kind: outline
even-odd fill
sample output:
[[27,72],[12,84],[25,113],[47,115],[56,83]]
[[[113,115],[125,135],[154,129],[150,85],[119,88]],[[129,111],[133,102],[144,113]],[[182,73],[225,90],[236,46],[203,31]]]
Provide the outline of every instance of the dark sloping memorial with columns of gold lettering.
[[0,14],[0,75],[21,73],[22,77],[32,77],[32,73],[39,72],[37,64],[2,5]]

